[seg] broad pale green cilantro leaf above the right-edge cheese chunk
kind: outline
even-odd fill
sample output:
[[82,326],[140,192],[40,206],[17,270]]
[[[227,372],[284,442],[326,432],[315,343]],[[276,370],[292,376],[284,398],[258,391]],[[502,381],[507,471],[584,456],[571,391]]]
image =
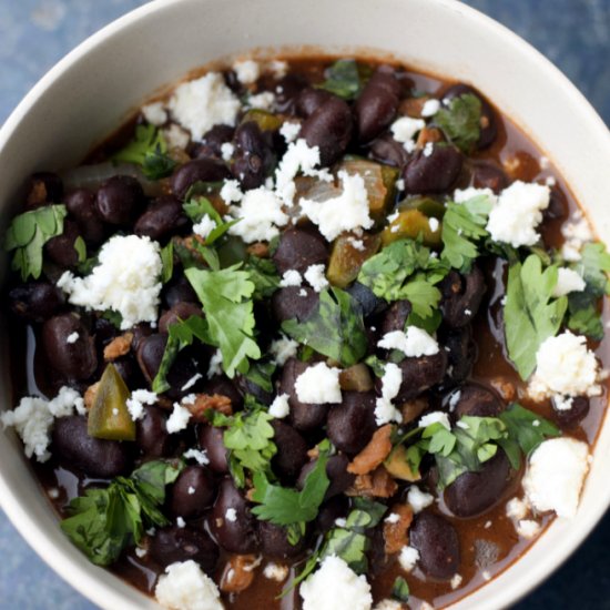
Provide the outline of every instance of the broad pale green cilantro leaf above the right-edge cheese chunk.
[[535,254],[522,265],[517,263],[508,270],[504,308],[506,345],[521,379],[533,373],[540,344],[557,334],[566,314],[568,299],[552,298],[557,277],[557,267],[551,265],[542,272],[542,263]]

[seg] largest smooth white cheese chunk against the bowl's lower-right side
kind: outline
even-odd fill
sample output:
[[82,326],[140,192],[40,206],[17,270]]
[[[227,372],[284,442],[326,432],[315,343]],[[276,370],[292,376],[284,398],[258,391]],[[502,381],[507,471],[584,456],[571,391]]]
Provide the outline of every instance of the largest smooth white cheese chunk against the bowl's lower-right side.
[[589,469],[588,456],[588,445],[575,438],[542,441],[529,458],[522,480],[531,506],[539,511],[555,510],[558,517],[575,517]]

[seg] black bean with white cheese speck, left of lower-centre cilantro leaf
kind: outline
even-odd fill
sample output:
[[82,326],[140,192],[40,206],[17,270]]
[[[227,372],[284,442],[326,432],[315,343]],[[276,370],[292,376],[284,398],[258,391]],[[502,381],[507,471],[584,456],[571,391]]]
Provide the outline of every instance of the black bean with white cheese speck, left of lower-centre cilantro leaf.
[[[227,517],[228,509],[233,510]],[[255,552],[258,548],[256,520],[250,512],[245,498],[231,479],[221,482],[207,525],[216,542],[228,552],[243,555]]]

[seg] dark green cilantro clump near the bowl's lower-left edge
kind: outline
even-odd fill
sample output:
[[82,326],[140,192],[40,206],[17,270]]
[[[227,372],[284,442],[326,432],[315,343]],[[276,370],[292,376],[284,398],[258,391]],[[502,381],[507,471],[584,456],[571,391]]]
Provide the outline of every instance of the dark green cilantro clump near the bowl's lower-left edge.
[[61,529],[96,566],[116,561],[144,531],[170,521],[161,512],[166,485],[175,481],[183,464],[150,461],[131,477],[116,477],[105,489],[88,489],[68,507]]

